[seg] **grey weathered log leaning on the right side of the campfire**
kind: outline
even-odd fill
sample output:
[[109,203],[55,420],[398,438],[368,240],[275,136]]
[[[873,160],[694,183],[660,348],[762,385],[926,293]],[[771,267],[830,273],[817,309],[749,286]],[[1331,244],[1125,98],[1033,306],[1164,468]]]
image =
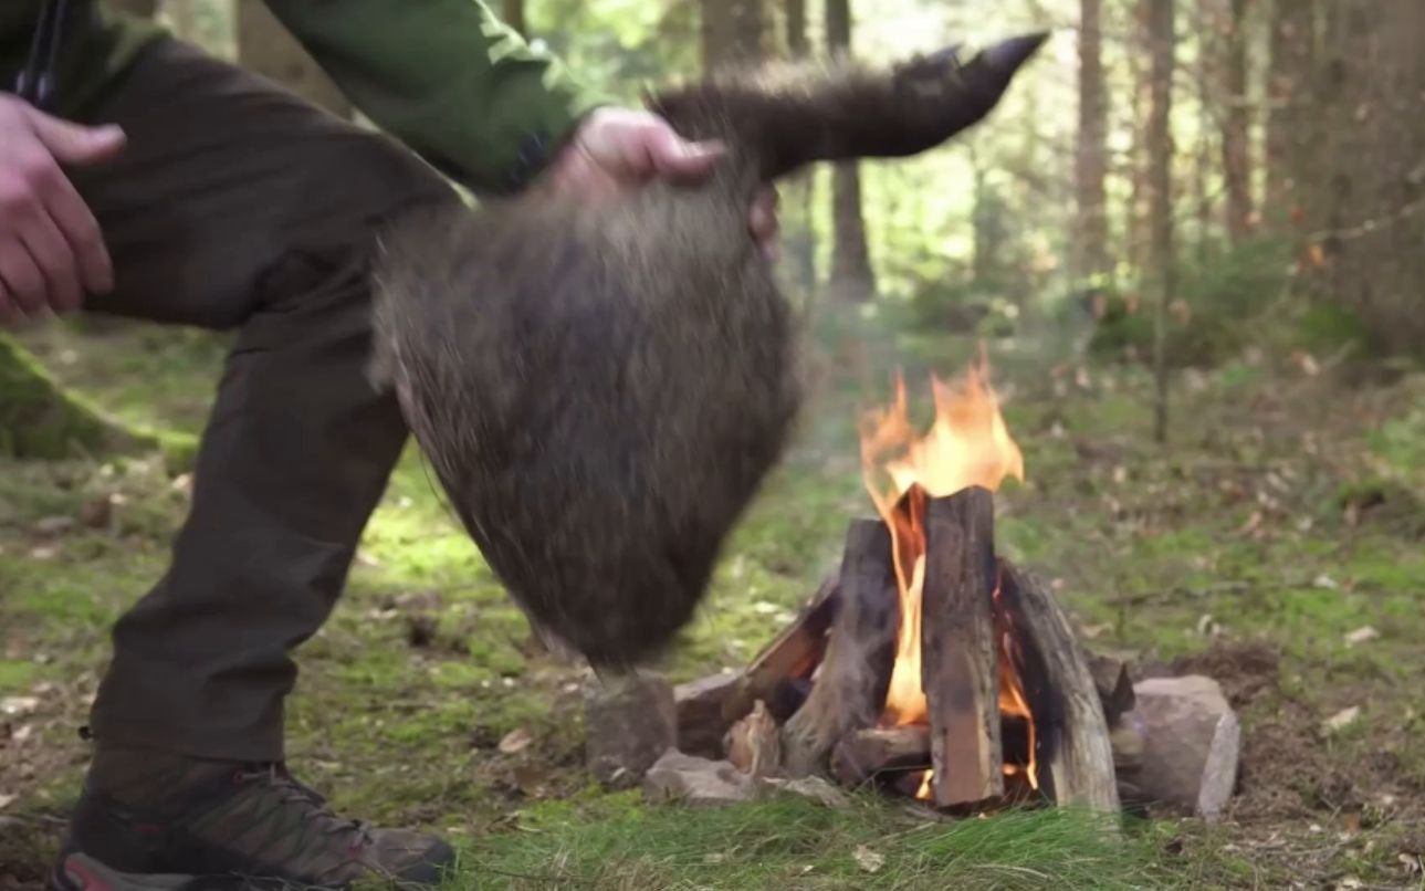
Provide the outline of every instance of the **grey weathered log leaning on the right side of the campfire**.
[[1042,663],[1036,683],[1057,693],[1059,714],[1037,714],[1040,788],[1060,805],[1119,811],[1103,703],[1069,617],[1032,575],[1000,560],[1000,592]]

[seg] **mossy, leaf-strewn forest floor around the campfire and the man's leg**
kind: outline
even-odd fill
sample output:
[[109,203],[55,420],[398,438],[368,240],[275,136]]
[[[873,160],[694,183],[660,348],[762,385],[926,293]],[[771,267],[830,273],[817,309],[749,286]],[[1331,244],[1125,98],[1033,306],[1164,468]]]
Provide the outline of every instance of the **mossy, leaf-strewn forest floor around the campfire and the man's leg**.
[[[187,435],[221,371],[218,341],[174,331],[28,341],[118,416]],[[970,356],[929,346],[945,374]],[[1425,888],[1425,375],[1348,382],[1265,358],[1187,372],[1164,450],[1144,374],[1025,352],[992,352],[1027,469],[1000,493],[999,547],[1053,580],[1093,649],[1223,683],[1244,724],[1223,823],[1159,815],[1113,838],[1060,813],[935,824],[871,798],[604,793],[581,761],[590,677],[530,647],[413,450],[299,650],[294,770],[341,811],[445,833],[470,888]],[[745,664],[834,567],[871,510],[855,411],[891,393],[872,379],[808,408],[673,680]],[[164,570],[185,509],[170,470],[0,463],[0,888],[37,887],[53,857],[110,626]],[[73,522],[97,499],[108,525]]]

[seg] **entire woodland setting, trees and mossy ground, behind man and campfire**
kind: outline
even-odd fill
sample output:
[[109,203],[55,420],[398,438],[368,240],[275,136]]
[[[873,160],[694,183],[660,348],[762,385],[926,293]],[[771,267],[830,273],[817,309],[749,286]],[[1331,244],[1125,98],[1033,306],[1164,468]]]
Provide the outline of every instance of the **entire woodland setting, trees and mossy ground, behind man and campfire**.
[[[361,120],[256,0],[107,1]],[[1425,714],[1402,696],[1425,671],[1425,4],[490,7],[630,103],[721,64],[1053,31],[955,144],[781,184],[779,274],[821,396],[668,670],[755,654],[869,509],[856,409],[889,399],[896,368],[923,402],[923,372],[955,374],[983,341],[1029,473],[1003,493],[1003,547],[1096,647],[1223,681],[1243,790],[1226,827],[1166,820],[1129,853],[1057,824],[932,838],[885,808],[644,814],[586,788],[566,689],[581,676],[532,649],[416,456],[348,612],[304,649],[292,750],[318,784],[469,838],[496,884],[547,868],[611,888],[1425,887]],[[0,335],[16,862],[43,864],[73,795],[71,726],[108,624],[162,569],[225,342],[101,316]]]

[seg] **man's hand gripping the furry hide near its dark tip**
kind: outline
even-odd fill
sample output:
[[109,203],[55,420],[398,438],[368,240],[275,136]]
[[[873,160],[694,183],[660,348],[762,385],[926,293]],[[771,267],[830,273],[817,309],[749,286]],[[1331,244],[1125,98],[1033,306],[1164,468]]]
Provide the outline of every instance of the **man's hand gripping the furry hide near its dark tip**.
[[[717,143],[690,143],[661,117],[633,108],[596,108],[549,171],[551,187],[591,198],[654,177],[698,181],[721,160]],[[768,259],[777,257],[777,190],[762,188],[748,228]]]

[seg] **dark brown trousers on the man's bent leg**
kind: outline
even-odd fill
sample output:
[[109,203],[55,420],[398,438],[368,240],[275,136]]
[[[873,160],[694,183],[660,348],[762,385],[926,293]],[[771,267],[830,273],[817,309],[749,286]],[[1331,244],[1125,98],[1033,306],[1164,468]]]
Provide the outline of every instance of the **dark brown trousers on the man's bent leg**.
[[87,309],[237,329],[167,575],[114,629],[101,747],[284,757],[291,650],[331,614],[406,439],[365,378],[373,227],[453,190],[395,143],[167,40],[87,110],[114,258]]

